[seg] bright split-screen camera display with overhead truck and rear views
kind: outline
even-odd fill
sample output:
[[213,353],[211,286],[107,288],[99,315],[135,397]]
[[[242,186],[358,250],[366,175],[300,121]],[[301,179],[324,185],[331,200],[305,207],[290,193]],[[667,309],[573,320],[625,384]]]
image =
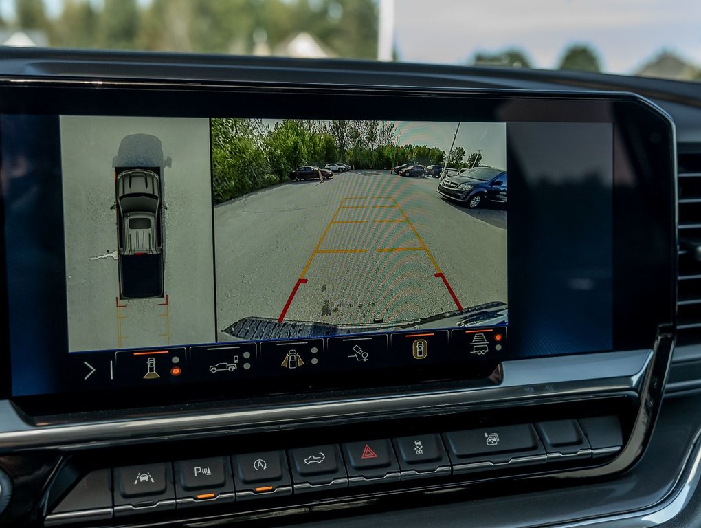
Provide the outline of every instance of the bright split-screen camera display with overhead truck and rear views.
[[60,123],[69,352],[507,323],[504,123]]

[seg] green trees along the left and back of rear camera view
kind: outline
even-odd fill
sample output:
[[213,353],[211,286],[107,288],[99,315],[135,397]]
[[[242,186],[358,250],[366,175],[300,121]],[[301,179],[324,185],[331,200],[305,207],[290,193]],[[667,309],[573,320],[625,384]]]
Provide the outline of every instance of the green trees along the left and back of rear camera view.
[[[301,165],[389,169],[409,162],[442,165],[445,160],[442,149],[399,145],[399,140],[391,121],[285,119],[266,126],[261,119],[212,119],[214,200],[222,203],[286,182]],[[464,158],[462,147],[451,153],[456,166]]]

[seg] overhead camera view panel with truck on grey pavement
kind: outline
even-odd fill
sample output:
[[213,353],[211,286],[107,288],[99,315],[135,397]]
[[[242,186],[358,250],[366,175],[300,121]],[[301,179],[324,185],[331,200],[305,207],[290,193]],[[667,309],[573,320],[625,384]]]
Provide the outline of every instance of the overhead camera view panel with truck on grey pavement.
[[60,128],[69,351],[211,341],[209,120]]

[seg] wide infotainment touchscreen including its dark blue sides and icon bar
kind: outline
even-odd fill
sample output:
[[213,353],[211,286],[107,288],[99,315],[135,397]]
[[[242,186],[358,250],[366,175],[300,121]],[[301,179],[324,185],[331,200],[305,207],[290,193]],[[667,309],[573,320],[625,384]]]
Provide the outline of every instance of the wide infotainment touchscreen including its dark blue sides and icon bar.
[[392,101],[0,112],[12,394],[484,380],[629,346],[612,118]]

